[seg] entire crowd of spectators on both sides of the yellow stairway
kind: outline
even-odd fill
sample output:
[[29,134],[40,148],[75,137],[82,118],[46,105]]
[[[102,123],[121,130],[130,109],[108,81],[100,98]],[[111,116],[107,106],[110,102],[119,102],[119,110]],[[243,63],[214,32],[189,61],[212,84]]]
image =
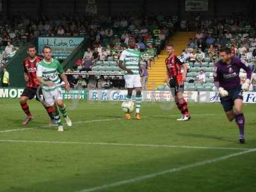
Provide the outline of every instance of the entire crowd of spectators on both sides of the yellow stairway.
[[[145,74],[141,75],[141,79],[147,83],[147,70],[172,31],[197,31],[181,55],[188,63],[214,63],[218,60],[221,47],[229,47],[234,56],[247,63],[256,61],[255,21],[242,16],[214,20],[202,20],[200,15],[191,18],[61,14],[58,17],[41,15],[29,19],[25,15],[17,15],[0,22],[0,67],[19,51],[22,44],[36,36],[88,36],[92,48],[88,48],[81,61],[76,62],[77,66],[81,65],[79,71],[88,72],[99,62],[118,61],[122,51],[127,49],[129,38],[133,37],[136,39],[136,49],[141,51],[141,62],[145,63]],[[95,79],[102,81],[102,77],[92,77],[92,81]],[[111,79],[104,79],[108,80]]]

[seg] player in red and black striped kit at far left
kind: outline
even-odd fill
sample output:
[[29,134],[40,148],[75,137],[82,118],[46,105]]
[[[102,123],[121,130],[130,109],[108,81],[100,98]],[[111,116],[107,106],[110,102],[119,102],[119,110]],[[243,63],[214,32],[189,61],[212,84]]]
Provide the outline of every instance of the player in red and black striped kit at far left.
[[[27,53],[28,53],[28,58],[26,58],[23,61],[24,78],[27,85],[22,95],[20,95],[20,106],[24,111],[24,113],[26,113],[27,115],[25,120],[23,121],[23,125],[27,125],[33,119],[33,116],[31,115],[27,101],[35,98],[35,96],[36,96],[36,100],[43,101],[42,93],[40,93],[42,91],[38,90],[40,84],[36,79],[36,66],[38,65],[38,63],[40,63],[42,58],[36,56],[35,45],[29,45],[27,49]],[[38,98],[38,97],[41,97],[41,98]],[[42,104],[44,106],[43,102]],[[44,106],[44,108],[46,109],[48,115],[51,118],[51,124],[55,124],[54,116],[52,114],[52,108],[46,107],[46,106]]]

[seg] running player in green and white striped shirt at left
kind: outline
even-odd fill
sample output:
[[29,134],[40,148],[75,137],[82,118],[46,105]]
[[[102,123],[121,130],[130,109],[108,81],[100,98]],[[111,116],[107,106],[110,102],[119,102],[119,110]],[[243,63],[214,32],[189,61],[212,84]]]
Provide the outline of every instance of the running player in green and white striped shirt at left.
[[58,124],[58,131],[63,131],[63,125],[59,115],[60,109],[68,126],[72,125],[70,118],[68,118],[66,106],[62,100],[61,82],[58,73],[65,82],[65,90],[68,92],[70,86],[67,81],[67,76],[58,60],[52,58],[52,49],[45,46],[42,49],[44,60],[40,61],[37,66],[36,76],[38,82],[42,84],[42,92],[45,98],[45,104],[52,107],[56,124]]

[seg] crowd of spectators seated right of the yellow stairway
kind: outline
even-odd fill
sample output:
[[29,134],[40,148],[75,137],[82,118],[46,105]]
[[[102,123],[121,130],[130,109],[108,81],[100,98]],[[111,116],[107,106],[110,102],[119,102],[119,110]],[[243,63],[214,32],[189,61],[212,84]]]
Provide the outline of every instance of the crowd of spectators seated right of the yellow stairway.
[[[199,16],[198,16],[199,17]],[[185,25],[184,25],[185,23]],[[198,20],[193,21],[197,29],[195,38],[188,40],[188,46],[182,52],[182,58],[189,63],[189,67],[202,66],[206,62],[212,63],[219,60],[221,47],[228,47],[232,56],[241,58],[244,63],[256,64],[256,21],[246,20],[244,17],[230,19]],[[180,28],[191,28],[191,22],[180,22]],[[241,70],[241,74],[243,71]],[[204,77],[204,78],[203,78]],[[256,79],[255,79],[256,80]],[[255,81],[254,80],[254,81]],[[204,84],[204,70],[201,70],[195,81]],[[243,81],[243,78],[241,78]],[[254,82],[253,81],[253,82]]]

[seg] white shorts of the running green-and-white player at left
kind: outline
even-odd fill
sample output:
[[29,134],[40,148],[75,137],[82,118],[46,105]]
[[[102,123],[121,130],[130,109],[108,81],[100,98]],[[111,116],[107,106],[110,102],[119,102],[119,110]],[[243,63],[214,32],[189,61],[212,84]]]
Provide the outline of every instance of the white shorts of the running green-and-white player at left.
[[62,100],[61,88],[56,88],[51,92],[46,92],[44,89],[42,90],[44,95],[44,104],[45,106],[53,106],[56,100]]

